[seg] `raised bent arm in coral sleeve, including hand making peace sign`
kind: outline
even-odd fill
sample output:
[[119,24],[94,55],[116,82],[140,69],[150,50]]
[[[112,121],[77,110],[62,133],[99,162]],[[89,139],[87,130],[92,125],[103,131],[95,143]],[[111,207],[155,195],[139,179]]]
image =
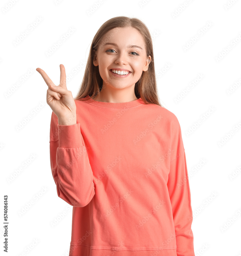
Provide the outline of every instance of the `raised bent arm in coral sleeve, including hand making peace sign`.
[[56,86],[41,69],[36,69],[48,86],[47,104],[52,109],[50,122],[50,164],[60,198],[76,207],[86,206],[95,195],[80,124],[76,123],[76,104],[66,87],[64,65],[60,64],[60,84]]

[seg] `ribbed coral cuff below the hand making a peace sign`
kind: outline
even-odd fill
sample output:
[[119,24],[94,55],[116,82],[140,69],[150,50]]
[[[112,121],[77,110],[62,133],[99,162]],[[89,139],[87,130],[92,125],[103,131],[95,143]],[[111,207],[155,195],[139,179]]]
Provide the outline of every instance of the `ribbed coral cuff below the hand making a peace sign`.
[[83,146],[79,123],[73,125],[58,124],[58,131],[59,147],[78,148]]

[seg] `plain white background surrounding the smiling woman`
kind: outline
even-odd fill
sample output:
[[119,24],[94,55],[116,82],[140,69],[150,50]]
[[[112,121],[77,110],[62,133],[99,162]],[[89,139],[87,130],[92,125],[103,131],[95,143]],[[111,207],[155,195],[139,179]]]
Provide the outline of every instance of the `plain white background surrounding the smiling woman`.
[[[67,78],[73,76],[67,88],[75,97],[85,70],[80,65],[87,61],[91,41],[98,28],[114,16],[139,18],[152,34],[159,97],[177,116],[182,130],[196,256],[241,255],[241,216],[237,215],[241,210],[240,2],[1,1],[0,208],[3,223],[3,196],[8,195],[8,255],[68,255],[72,206],[58,197],[51,174],[52,110],[46,103],[48,87],[36,68],[58,85],[59,65],[63,64]],[[36,24],[32,30],[31,24]],[[61,40],[71,28],[74,33]],[[21,37],[26,30],[29,34]],[[198,39],[193,42],[195,36]],[[62,44],[47,56],[59,40]],[[17,129],[29,115],[31,119]],[[32,160],[31,155],[35,155]],[[23,167],[25,161],[28,165]],[[52,226],[59,215],[64,217]],[[3,231],[1,224],[1,251]],[[35,239],[38,242],[31,247]],[[26,252],[28,246],[32,249]]]

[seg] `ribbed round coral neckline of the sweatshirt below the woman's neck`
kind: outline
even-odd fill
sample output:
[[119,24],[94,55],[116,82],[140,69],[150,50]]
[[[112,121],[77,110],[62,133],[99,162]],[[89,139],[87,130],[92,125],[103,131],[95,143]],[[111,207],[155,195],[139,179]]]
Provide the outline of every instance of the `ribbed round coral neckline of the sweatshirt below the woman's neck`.
[[143,100],[141,98],[129,102],[103,102],[103,101],[97,101],[90,98],[89,95],[85,97],[87,100],[85,102],[88,102],[91,105],[96,105],[101,108],[107,108],[107,109],[129,109],[136,107],[138,105],[144,104]]

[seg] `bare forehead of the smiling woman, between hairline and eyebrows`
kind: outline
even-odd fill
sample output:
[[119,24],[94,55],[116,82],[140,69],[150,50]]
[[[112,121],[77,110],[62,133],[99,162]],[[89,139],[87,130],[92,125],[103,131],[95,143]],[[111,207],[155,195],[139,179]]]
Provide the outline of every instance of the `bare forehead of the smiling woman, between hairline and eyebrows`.
[[109,30],[102,38],[101,46],[107,42],[112,42],[122,47],[126,47],[127,45],[138,45],[144,49],[145,46],[142,34],[132,27],[117,27]]

